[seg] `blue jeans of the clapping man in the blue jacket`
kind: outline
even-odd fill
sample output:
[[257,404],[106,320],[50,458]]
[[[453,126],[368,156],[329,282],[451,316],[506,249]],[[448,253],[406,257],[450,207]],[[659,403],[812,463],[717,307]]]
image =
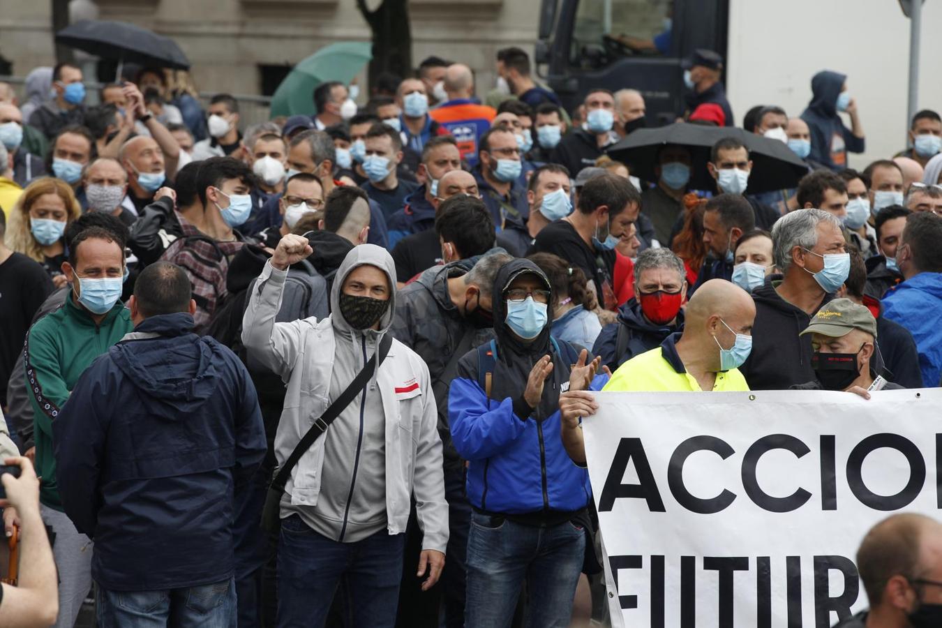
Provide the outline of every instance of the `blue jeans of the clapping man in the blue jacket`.
[[472,513],[465,626],[510,626],[526,579],[526,625],[566,628],[584,556],[585,531],[573,523],[538,527]]

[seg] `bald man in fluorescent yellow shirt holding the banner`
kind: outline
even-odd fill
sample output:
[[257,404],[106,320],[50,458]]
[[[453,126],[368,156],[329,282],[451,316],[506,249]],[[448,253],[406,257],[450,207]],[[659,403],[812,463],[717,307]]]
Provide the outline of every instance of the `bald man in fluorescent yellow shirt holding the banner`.
[[[672,298],[662,295],[661,298]],[[680,298],[679,295],[676,298]],[[755,304],[732,282],[714,279],[697,289],[687,303],[684,330],[618,367],[603,391],[729,392],[748,391],[739,373],[752,348]],[[560,395],[562,443],[569,458],[585,464],[579,418],[592,416],[598,404],[592,393]]]

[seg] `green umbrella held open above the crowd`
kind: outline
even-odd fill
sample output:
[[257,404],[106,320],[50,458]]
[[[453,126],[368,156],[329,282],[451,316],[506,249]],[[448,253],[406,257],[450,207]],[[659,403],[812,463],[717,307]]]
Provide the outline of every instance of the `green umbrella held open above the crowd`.
[[314,89],[325,81],[349,84],[373,58],[368,41],[338,41],[324,46],[296,65],[271,97],[271,115],[312,115]]

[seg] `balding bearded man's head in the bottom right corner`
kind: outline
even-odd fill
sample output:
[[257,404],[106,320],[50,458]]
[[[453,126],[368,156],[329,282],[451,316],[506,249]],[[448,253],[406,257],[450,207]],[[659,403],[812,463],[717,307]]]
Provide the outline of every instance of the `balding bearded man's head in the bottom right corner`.
[[835,628],[942,625],[942,524],[913,513],[870,528],[857,550],[869,610]]

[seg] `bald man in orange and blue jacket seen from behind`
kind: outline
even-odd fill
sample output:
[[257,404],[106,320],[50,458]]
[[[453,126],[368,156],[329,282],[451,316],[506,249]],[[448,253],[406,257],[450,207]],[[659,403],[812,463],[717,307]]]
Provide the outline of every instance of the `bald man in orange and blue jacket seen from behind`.
[[444,126],[458,141],[458,150],[468,165],[478,164],[478,142],[494,121],[497,111],[481,105],[474,97],[474,74],[463,63],[454,63],[445,71],[448,100],[429,112],[433,121]]

